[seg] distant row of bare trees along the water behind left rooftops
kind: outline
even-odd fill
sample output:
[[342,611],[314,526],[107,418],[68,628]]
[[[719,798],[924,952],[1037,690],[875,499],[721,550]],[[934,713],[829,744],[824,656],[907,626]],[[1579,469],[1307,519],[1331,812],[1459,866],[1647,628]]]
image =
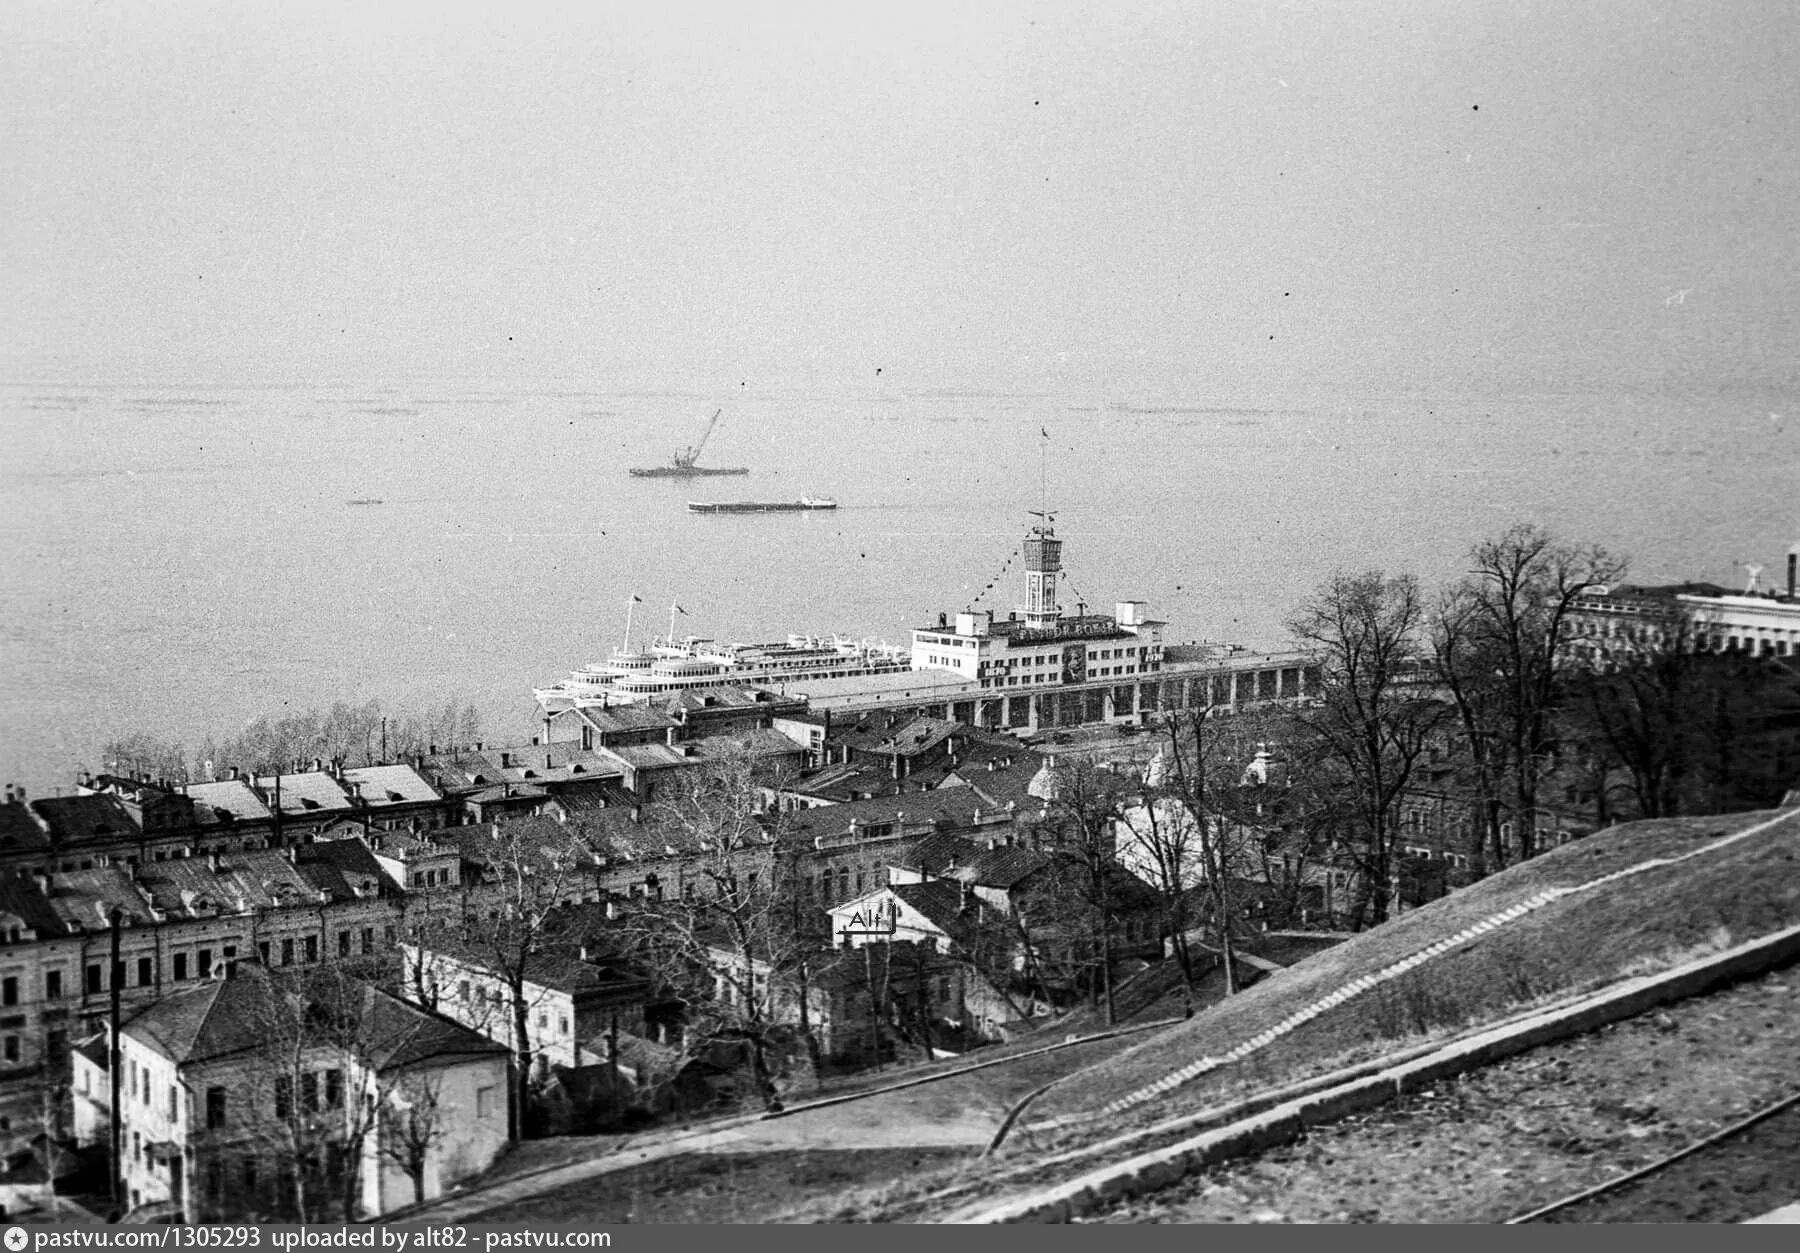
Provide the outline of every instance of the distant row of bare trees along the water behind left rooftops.
[[133,731],[101,745],[101,769],[112,774],[205,783],[238,767],[245,772],[308,769],[311,762],[373,765],[481,740],[481,713],[446,700],[428,709],[385,709],[380,700],[335,702],[329,709],[259,715],[238,735],[211,735],[189,751],[173,740]]

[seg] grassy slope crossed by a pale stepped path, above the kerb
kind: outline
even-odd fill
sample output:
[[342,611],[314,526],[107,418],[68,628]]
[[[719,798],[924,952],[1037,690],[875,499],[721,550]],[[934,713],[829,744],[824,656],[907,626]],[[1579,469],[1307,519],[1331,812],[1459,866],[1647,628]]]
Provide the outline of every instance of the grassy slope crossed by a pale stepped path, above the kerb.
[[[1546,888],[1573,888],[1647,861],[1705,850],[1777,817],[1733,814],[1633,823],[1566,844],[1307,958],[1094,1064],[1046,1093],[1031,1122],[1093,1116],[1107,1102],[1199,1057],[1222,1057],[1301,1006],[1483,918],[1528,904]],[[1796,857],[1800,810],[1791,810],[1769,830],[1735,844],[1544,904],[1391,983],[1352,996],[1240,1062],[1204,1073],[1125,1116],[1109,1116],[1107,1127],[1116,1131],[1121,1123],[1166,1118],[1222,1096],[1381,1055],[1426,1035],[1494,1023],[1532,1003],[1793,925],[1800,922]]]

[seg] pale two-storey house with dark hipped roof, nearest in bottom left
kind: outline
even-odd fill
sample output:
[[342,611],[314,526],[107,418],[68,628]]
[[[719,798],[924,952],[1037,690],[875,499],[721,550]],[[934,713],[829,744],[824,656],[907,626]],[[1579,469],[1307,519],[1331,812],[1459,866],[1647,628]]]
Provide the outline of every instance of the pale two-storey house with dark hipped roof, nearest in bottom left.
[[374,1217],[481,1174],[508,1143],[506,1050],[367,983],[245,967],[133,1014],[119,1051],[133,1212]]

